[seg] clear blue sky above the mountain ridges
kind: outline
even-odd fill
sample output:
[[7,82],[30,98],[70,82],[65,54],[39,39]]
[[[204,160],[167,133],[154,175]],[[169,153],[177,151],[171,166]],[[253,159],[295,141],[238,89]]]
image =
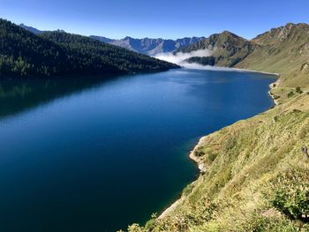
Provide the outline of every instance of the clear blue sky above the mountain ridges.
[[0,0],[0,18],[116,39],[175,39],[223,30],[250,39],[288,22],[309,23],[309,0]]

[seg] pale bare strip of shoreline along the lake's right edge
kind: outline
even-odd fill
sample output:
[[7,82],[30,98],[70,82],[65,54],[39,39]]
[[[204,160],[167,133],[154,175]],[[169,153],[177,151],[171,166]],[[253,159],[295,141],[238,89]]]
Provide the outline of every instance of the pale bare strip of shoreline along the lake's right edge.
[[[247,71],[247,70],[243,70],[243,69],[237,69],[237,70],[240,70],[240,71]],[[250,71],[250,70],[248,70]],[[277,77],[279,77],[274,83],[271,83],[269,85],[269,91],[268,91],[268,94],[269,96],[272,98],[272,100],[274,101],[275,103],[275,106],[278,105],[278,102],[274,99],[274,96],[271,93],[271,90],[273,88],[275,88],[275,86],[278,86],[280,84],[280,74],[279,73],[271,73],[271,72],[263,72],[263,71],[251,71],[251,72],[259,72],[259,73],[262,73],[262,74],[269,74],[269,75],[275,75]],[[275,86],[274,86],[275,84]],[[236,122],[235,122],[236,123]],[[221,129],[219,129],[218,131],[220,131]],[[205,135],[207,136],[207,135]],[[200,144],[202,143],[204,137],[201,137],[199,139],[199,142],[193,147],[193,150],[189,153],[189,158],[194,161],[197,165],[198,165],[198,168],[200,169],[200,174],[203,174],[206,172],[207,170],[207,166],[200,160],[200,158],[198,156],[195,155],[195,151],[196,149],[198,149],[198,147],[200,146]],[[200,177],[200,175],[198,176],[198,178]],[[195,180],[196,181],[196,180]],[[195,181],[193,181],[192,183],[194,183]],[[183,195],[178,198],[174,203],[172,203],[169,207],[167,207],[166,209],[164,209],[164,211],[158,216],[158,220],[161,220],[163,218],[165,218],[166,216],[168,216],[178,205],[179,203],[184,199]]]

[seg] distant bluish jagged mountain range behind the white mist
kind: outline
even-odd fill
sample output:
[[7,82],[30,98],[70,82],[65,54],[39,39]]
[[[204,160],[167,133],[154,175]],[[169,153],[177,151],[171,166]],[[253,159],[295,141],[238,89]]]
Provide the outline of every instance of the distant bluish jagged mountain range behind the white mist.
[[188,46],[192,43],[198,42],[204,37],[186,37],[177,40],[164,40],[164,39],[134,39],[132,37],[125,37],[122,40],[111,40],[101,36],[90,36],[93,39],[109,42],[110,44],[122,47],[124,49],[130,49],[148,56],[155,56],[160,53],[174,52],[177,49]]

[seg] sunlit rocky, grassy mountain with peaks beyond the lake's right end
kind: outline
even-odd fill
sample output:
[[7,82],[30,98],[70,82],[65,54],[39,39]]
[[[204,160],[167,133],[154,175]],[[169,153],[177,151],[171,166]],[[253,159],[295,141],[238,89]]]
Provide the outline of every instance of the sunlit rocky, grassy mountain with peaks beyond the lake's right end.
[[[225,31],[178,51],[188,53],[199,49],[211,50],[212,56],[192,57],[188,59],[189,63],[255,71],[289,72],[289,78],[282,81],[288,81],[290,84],[293,82],[296,85],[300,79],[297,81],[291,76],[296,72],[300,76],[302,73],[305,75],[308,71],[305,67],[309,65],[309,25],[289,23],[260,34],[251,41]],[[309,79],[302,81],[309,85]]]

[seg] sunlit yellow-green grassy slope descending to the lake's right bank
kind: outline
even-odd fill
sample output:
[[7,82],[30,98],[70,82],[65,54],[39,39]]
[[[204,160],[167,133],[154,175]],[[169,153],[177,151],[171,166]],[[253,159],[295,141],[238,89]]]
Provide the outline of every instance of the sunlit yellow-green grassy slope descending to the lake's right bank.
[[[281,73],[271,90],[278,105],[201,138],[192,156],[206,172],[185,188],[170,213],[130,231],[309,231],[303,218],[309,214],[309,159],[301,152],[309,145],[309,73],[302,68],[308,53],[306,45],[302,52],[289,49],[294,38],[278,43],[273,54],[277,41],[268,36],[274,34],[257,37],[268,49],[237,67]],[[296,86],[305,92],[296,93]]]

